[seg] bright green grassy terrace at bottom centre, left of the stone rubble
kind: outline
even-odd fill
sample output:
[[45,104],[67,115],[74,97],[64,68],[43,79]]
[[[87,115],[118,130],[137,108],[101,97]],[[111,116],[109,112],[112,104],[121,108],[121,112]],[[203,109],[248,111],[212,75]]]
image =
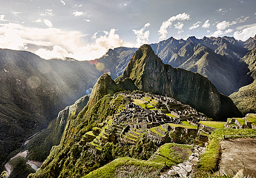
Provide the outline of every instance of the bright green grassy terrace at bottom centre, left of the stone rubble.
[[[129,158],[129,157],[118,158],[118,159],[115,159],[114,161],[111,161],[109,164],[106,164],[105,166],[90,172],[89,174],[83,176],[83,178],[119,177],[119,176],[116,176],[116,174],[120,170],[126,170],[126,168],[130,168],[130,170],[128,170],[128,172],[130,173],[130,176],[125,175],[122,177],[135,177],[135,176],[132,176],[131,174],[136,170],[142,170],[142,171],[145,171],[146,173],[150,171],[157,172],[165,163],[169,167],[172,165],[177,165],[178,163],[182,163],[184,160],[187,159],[187,156],[192,153],[191,149],[192,149],[192,146],[190,145],[166,143],[158,149],[158,151],[156,152],[156,155],[153,155],[147,161]],[[179,150],[179,151],[176,151],[176,150]],[[136,176],[136,177],[139,177],[139,176]],[[160,175],[145,176],[145,174],[141,174],[140,177],[160,177]]]

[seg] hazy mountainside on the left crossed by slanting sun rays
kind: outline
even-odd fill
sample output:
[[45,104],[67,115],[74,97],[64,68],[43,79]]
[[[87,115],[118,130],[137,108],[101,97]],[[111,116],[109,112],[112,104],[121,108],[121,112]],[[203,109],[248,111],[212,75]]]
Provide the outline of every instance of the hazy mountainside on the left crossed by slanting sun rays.
[[0,49],[0,163],[86,95],[101,74],[89,62],[46,61],[28,51]]

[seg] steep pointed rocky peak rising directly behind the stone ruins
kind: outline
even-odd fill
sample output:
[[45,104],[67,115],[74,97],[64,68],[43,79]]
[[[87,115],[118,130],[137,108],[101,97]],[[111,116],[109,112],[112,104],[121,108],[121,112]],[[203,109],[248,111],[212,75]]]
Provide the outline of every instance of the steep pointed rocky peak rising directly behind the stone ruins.
[[215,120],[241,116],[232,100],[221,95],[208,78],[163,64],[149,45],[135,52],[123,75],[115,81],[118,84],[126,78],[144,92],[173,97]]

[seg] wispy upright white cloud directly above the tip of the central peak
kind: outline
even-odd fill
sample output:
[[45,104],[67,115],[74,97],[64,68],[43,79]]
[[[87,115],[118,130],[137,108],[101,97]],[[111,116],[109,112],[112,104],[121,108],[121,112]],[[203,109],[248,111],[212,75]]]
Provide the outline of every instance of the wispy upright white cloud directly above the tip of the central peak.
[[136,29],[133,29],[133,33],[137,36],[137,44],[135,47],[140,47],[141,45],[148,43],[148,37],[149,37],[149,31],[145,31],[145,29],[150,25],[150,23],[146,23],[143,28],[136,31]]

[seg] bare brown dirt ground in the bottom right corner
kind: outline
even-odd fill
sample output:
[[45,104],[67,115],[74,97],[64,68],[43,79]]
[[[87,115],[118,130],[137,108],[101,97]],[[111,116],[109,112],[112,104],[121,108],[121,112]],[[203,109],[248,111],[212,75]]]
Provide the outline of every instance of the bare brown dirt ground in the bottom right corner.
[[217,174],[234,175],[245,168],[246,174],[256,176],[256,138],[226,139],[220,142],[221,160]]

